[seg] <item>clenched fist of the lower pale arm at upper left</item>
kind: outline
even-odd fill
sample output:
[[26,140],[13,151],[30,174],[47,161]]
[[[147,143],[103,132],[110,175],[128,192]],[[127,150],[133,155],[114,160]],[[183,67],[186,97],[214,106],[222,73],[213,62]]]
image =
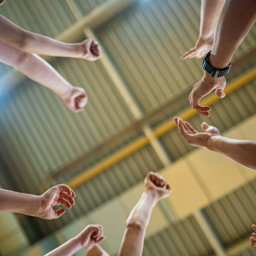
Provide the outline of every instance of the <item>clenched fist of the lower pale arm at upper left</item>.
[[77,113],[83,110],[88,101],[87,93],[83,88],[71,87],[70,90],[62,96],[67,107]]

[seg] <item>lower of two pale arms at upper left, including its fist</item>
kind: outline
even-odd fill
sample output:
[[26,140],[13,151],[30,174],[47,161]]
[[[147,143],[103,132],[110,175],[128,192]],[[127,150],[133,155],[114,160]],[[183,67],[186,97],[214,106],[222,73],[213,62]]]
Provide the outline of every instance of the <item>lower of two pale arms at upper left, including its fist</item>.
[[82,111],[87,104],[87,94],[84,89],[73,87],[38,55],[23,52],[0,41],[0,61],[54,91],[73,112]]

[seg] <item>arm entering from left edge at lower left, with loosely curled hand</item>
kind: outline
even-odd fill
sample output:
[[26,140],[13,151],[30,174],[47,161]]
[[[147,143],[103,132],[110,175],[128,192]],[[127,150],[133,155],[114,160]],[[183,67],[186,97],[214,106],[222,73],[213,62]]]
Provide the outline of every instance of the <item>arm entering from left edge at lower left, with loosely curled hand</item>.
[[0,212],[16,212],[42,219],[55,219],[66,210],[53,207],[62,205],[71,209],[75,204],[76,194],[65,184],[59,184],[48,189],[42,195],[29,195],[0,189]]

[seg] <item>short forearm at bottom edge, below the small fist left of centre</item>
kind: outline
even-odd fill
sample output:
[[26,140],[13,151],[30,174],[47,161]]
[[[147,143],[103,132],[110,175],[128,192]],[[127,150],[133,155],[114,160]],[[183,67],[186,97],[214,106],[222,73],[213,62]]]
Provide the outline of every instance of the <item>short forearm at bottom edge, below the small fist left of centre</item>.
[[72,238],[58,248],[47,253],[45,256],[71,256],[82,249],[78,239]]

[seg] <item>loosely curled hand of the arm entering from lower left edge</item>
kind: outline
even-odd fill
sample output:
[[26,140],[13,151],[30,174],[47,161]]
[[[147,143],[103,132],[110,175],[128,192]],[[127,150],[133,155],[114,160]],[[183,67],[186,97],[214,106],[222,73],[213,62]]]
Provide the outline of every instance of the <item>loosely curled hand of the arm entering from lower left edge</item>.
[[39,207],[35,216],[48,220],[59,218],[66,210],[59,209],[55,211],[52,207],[64,205],[68,209],[71,209],[71,205],[75,204],[75,196],[74,191],[65,184],[54,186],[40,196],[41,207]]

